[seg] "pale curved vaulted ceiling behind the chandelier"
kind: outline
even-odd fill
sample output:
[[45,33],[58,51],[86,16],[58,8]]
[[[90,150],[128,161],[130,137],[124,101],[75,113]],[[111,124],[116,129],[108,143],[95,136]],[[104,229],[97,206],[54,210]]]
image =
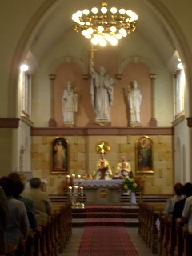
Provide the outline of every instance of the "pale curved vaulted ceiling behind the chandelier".
[[[166,18],[150,0],[108,0],[107,4],[109,8],[115,6],[118,9],[125,8],[136,12],[138,26],[134,33],[138,33],[146,43],[153,47],[170,71],[175,69],[178,62],[177,40]],[[30,65],[35,69],[42,58],[54,47],[54,44],[60,38],[65,37],[69,30],[73,30],[71,16],[74,12],[85,8],[91,9],[93,6],[102,6],[102,1],[59,0],[54,2],[49,10],[42,14],[42,18],[30,35],[25,51],[26,60],[30,62]],[[81,34],[78,36],[82,37]],[[130,36],[131,34],[122,40],[129,40]]]

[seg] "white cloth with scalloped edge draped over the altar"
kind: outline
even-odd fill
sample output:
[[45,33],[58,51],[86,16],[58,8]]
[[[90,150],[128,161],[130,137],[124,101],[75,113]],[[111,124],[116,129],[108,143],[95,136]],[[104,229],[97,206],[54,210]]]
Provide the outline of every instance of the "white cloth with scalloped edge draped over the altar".
[[124,182],[123,179],[111,179],[111,180],[105,180],[105,179],[81,179],[81,178],[74,178],[74,185],[76,186],[90,186],[90,187],[118,187],[119,184],[122,184]]

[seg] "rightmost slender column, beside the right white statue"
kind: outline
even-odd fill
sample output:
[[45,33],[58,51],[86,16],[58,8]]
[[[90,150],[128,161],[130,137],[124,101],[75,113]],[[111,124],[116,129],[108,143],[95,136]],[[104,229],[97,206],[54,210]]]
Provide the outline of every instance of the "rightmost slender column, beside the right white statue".
[[157,127],[157,120],[155,118],[155,79],[157,78],[156,74],[150,74],[151,82],[151,119],[150,127]]

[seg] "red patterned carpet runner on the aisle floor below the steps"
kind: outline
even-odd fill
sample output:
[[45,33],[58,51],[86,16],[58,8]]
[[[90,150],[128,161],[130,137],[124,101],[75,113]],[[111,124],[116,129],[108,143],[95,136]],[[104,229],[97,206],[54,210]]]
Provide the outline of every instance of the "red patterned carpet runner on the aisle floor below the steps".
[[124,227],[86,227],[78,256],[138,256]]

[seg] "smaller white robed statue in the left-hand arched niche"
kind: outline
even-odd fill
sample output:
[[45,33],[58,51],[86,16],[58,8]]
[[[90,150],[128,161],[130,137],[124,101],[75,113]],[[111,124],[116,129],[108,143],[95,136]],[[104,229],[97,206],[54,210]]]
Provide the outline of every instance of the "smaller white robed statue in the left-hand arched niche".
[[62,114],[64,124],[74,124],[74,112],[78,110],[78,94],[71,89],[71,81],[66,84],[66,89],[62,95]]

